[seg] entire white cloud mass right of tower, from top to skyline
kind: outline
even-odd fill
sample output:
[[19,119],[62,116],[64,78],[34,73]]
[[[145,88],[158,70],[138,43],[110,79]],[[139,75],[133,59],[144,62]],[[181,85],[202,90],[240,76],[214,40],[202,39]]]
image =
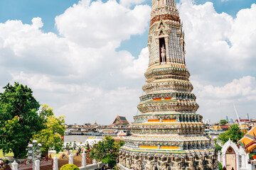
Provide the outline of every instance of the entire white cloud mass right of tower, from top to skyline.
[[211,2],[182,2],[178,8],[186,34],[186,64],[200,106],[198,113],[213,121],[225,115],[236,118],[235,103],[241,117],[255,114],[256,5],[233,18],[217,13]]

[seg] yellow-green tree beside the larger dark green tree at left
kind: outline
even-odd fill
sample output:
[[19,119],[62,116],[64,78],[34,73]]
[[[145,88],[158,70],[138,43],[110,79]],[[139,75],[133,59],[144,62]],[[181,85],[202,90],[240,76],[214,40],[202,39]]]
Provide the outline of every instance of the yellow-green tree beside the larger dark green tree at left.
[[[42,113],[43,112],[43,113]],[[44,114],[46,113],[46,114]],[[64,116],[55,118],[53,115],[53,109],[47,105],[43,105],[40,115],[43,115],[46,120],[44,123],[44,129],[33,135],[33,139],[38,140],[42,144],[41,151],[47,152],[49,149],[54,149],[56,152],[60,152],[63,149],[63,139],[61,136],[64,135],[65,123]]]

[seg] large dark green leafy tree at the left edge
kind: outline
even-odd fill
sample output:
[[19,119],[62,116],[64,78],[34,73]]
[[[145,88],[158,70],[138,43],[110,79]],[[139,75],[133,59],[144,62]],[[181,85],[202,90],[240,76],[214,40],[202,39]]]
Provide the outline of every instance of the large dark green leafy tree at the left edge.
[[37,111],[38,101],[28,86],[7,84],[0,94],[0,149],[4,154],[14,152],[14,157],[25,157],[26,147],[33,135],[42,128]]

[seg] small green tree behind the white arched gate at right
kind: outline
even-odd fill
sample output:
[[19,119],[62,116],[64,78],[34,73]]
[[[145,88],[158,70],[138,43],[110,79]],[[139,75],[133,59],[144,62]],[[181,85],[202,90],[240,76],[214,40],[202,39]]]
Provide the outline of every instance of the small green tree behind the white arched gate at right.
[[240,130],[238,124],[234,124],[230,127],[229,130],[220,134],[218,139],[222,141],[222,144],[225,144],[225,142],[228,142],[229,138],[233,142],[237,143],[240,139],[242,139],[242,137],[243,137],[243,133]]

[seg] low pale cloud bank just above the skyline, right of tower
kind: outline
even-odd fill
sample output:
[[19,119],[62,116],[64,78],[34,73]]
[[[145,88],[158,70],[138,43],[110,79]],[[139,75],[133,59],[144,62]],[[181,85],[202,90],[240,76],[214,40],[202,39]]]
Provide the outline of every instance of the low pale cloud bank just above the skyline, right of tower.
[[198,81],[192,82],[200,106],[198,113],[204,118],[214,121],[225,118],[226,115],[236,118],[233,104],[238,107],[241,118],[245,118],[246,113],[255,115],[255,77],[247,76],[234,79],[224,86],[203,86]]

